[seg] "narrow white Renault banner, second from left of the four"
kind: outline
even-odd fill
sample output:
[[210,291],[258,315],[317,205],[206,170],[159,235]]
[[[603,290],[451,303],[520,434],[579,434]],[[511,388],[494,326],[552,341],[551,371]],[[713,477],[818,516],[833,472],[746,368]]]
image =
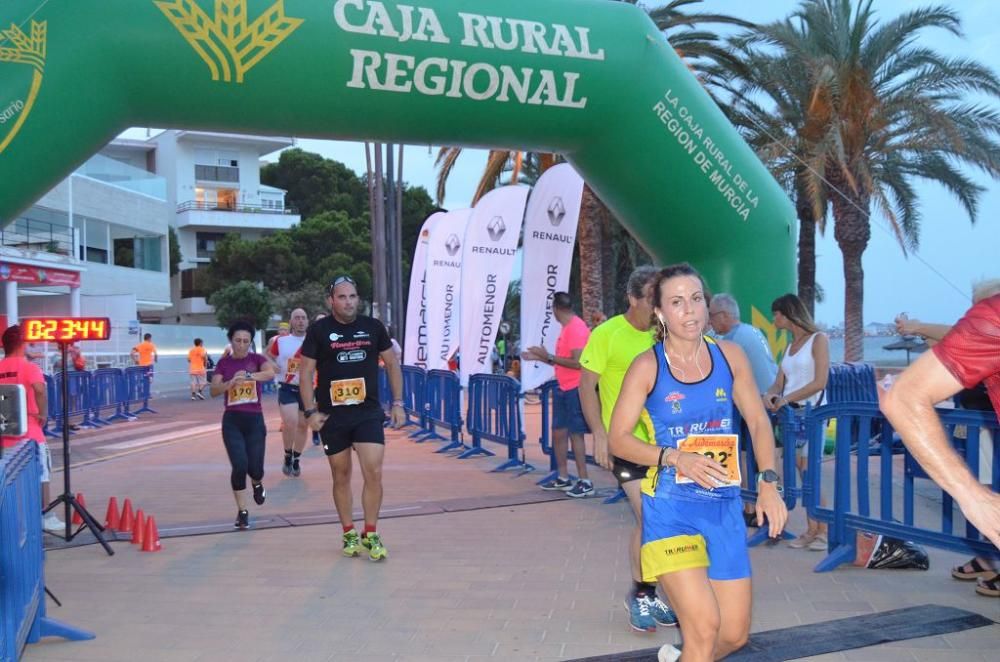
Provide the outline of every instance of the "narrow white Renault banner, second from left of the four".
[[462,282],[462,243],[471,209],[458,209],[434,221],[427,244],[427,369],[447,370],[458,349]]

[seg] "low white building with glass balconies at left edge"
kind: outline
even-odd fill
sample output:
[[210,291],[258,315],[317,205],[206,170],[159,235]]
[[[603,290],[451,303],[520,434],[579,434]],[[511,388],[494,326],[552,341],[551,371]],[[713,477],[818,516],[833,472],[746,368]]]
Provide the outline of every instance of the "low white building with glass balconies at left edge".
[[110,298],[120,311],[126,297],[131,319],[168,308],[171,212],[164,179],[104,153],[93,156],[0,228],[7,323],[101,314]]

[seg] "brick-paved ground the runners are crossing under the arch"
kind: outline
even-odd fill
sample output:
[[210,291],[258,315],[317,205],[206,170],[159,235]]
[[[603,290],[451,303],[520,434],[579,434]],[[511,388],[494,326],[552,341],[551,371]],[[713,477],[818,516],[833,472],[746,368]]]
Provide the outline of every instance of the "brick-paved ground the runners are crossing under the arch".
[[[218,405],[192,405],[163,402],[157,417],[140,423],[190,420],[178,426],[181,440],[73,471],[74,490],[86,494],[98,517],[115,494],[154,513],[161,530],[228,529],[234,508],[221,443],[215,434],[183,436],[217,417]],[[537,430],[533,414],[529,409],[529,431]],[[276,421],[270,427],[268,502],[253,516],[261,523],[331,518],[321,453],[310,445],[303,477],[283,478]],[[91,437],[99,434],[107,433]],[[537,432],[529,435],[529,459],[538,459],[536,438]],[[84,439],[75,439],[74,449],[89,443],[90,459],[114,455],[100,450],[110,444]],[[653,635],[628,629],[625,504],[530,503],[539,496],[540,472],[490,474],[495,459],[459,461],[433,449],[392,434],[385,469],[385,509],[392,516],[380,525],[390,557],[381,564],[342,558],[340,529],[329,523],[169,538],[156,554],[123,542],[114,543],[114,557],[97,546],[50,551],[48,586],[65,605],[50,602],[50,615],[97,638],[46,640],[29,646],[24,659],[563,660],[677,639],[674,629]],[[610,486],[604,472],[598,484]],[[356,498],[359,490],[360,482]],[[793,526],[801,528],[801,517],[793,513]],[[815,574],[816,553],[754,549],[753,629],[925,603],[1000,620],[1000,601],[949,578],[947,569],[960,557],[930,553],[928,572]],[[1000,625],[812,659],[994,660],[998,648]]]

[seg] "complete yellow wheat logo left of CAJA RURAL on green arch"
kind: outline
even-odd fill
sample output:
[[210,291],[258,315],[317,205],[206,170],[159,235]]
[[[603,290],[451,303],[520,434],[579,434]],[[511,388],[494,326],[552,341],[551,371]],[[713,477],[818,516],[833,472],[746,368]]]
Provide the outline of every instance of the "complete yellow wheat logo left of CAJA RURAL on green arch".
[[154,0],[177,31],[201,56],[212,80],[242,83],[246,73],[283,42],[303,19],[285,16],[276,2],[247,23],[247,0],[215,0],[213,20],[195,0]]

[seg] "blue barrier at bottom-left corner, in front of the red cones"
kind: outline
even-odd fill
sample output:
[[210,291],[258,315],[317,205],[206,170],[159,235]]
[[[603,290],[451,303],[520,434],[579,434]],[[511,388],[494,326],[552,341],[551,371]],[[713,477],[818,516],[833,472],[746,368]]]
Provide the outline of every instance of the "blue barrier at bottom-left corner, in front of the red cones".
[[0,457],[0,660],[17,660],[42,637],[93,639],[46,616],[38,445]]

